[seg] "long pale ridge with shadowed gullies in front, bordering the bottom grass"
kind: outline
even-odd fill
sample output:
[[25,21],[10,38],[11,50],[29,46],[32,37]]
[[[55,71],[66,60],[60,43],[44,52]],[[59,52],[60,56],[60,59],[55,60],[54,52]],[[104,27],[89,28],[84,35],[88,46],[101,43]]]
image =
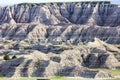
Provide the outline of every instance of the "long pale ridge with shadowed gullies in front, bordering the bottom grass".
[[[0,74],[6,77],[48,77],[48,76],[80,76],[85,78],[111,78],[112,76],[101,72],[93,71],[82,67],[75,57],[78,53],[65,52],[61,54],[60,62],[50,60],[49,54],[34,51],[26,57],[2,61],[0,63]],[[53,54],[54,55],[54,54]],[[66,57],[65,57],[66,56]],[[73,60],[74,59],[74,60]],[[79,62],[79,60],[78,60]]]

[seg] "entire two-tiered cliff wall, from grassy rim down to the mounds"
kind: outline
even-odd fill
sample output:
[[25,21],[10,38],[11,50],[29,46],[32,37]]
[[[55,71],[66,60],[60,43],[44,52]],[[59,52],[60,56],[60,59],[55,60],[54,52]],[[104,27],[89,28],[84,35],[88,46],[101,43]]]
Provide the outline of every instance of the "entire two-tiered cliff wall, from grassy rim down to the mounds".
[[73,43],[98,37],[109,43],[120,43],[119,13],[119,5],[110,3],[18,4],[0,7],[0,37],[37,41],[52,38],[72,40]]

